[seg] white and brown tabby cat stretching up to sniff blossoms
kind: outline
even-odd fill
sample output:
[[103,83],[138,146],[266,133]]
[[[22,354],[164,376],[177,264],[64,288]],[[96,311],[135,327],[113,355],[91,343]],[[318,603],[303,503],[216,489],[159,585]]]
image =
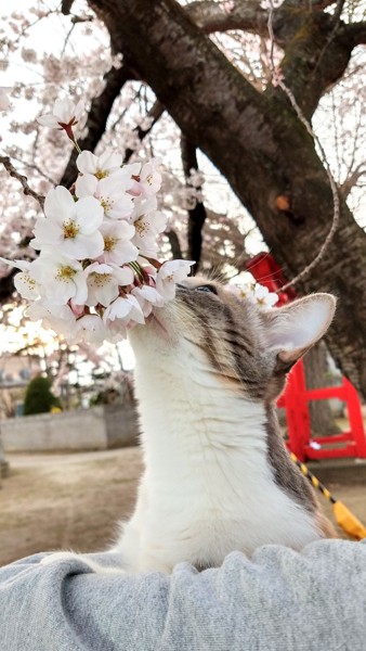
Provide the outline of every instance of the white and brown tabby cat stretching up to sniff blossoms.
[[181,561],[204,570],[234,550],[300,550],[335,535],[275,411],[286,374],[326,332],[335,306],[313,294],[265,308],[196,277],[130,331],[145,471],[109,550],[126,571],[169,573]]

